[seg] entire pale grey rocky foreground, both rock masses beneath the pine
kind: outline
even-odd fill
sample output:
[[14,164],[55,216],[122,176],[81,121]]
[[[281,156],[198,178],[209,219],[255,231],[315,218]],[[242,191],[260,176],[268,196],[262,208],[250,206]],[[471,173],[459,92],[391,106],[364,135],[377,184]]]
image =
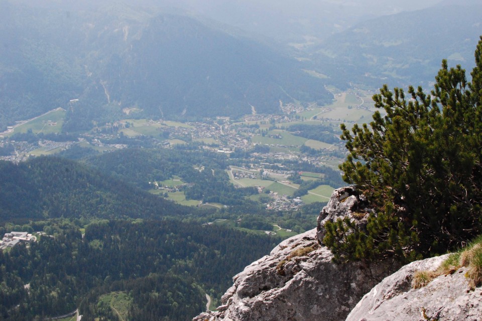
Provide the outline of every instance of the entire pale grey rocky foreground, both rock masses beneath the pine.
[[352,188],[335,190],[320,212],[316,229],[281,242],[270,255],[247,266],[233,277],[234,284],[217,311],[201,313],[193,321],[482,318],[482,289],[467,291],[463,269],[439,276],[421,289],[411,288],[416,270],[435,270],[445,256],[413,262],[393,275],[395,266],[388,262],[333,263],[332,253],[321,242],[324,223],[347,216],[363,225],[366,216],[362,214],[371,211],[366,199]]

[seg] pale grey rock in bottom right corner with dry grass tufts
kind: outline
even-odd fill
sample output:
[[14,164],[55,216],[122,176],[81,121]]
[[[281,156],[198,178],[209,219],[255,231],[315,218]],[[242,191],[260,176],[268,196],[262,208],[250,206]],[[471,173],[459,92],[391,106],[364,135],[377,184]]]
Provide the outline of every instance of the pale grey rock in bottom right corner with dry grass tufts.
[[446,257],[412,262],[386,277],[356,304],[347,321],[482,319],[482,288],[469,290],[466,268],[411,288],[415,271],[435,270]]

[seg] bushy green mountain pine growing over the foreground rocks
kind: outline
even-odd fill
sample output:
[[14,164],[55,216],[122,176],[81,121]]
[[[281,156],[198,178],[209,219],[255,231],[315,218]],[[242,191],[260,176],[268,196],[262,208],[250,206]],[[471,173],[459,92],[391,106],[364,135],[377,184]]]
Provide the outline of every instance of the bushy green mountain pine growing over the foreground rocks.
[[[373,97],[370,125],[341,125],[349,154],[346,183],[373,203],[366,230],[348,220],[327,223],[324,243],[335,258],[401,260],[440,254],[482,233],[482,37],[468,82],[447,61],[431,95],[421,87]],[[351,232],[351,233],[348,233]]]

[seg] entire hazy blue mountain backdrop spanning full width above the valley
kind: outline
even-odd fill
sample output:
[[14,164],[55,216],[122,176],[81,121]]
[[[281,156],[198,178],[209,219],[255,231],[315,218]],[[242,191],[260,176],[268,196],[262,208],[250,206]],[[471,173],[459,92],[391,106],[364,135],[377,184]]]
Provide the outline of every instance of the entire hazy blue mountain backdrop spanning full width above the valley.
[[482,34],[482,5],[452,4],[3,1],[0,129],[58,106],[75,131],[323,105],[326,85],[426,84],[442,58],[470,62]]

